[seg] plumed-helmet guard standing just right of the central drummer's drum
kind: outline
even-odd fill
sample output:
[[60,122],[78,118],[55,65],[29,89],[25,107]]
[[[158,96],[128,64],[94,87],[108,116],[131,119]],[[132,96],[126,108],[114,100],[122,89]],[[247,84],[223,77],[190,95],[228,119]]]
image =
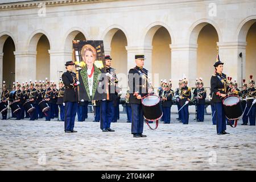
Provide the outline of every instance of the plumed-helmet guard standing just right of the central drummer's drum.
[[171,122],[171,106],[172,106],[172,97],[174,97],[174,91],[171,89],[171,81],[169,83],[164,83],[164,91],[162,100],[163,113],[164,113],[164,124],[170,124]]

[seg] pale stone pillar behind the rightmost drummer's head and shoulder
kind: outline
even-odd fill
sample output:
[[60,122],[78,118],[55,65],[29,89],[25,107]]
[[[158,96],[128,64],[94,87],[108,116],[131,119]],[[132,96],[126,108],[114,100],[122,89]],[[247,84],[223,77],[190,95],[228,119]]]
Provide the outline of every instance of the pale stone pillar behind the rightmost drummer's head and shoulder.
[[[246,42],[217,43],[220,60],[224,63],[223,72],[237,80],[238,86],[242,84],[242,77],[246,78]],[[239,54],[242,52],[242,59]],[[243,75],[243,76],[242,76]],[[246,78],[248,80],[248,78]]]

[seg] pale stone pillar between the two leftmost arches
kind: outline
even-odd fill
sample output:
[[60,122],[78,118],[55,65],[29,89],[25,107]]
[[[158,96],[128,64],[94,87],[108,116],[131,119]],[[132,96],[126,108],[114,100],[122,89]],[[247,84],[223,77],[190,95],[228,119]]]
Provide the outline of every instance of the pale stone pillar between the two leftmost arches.
[[15,81],[36,80],[36,51],[15,51]]

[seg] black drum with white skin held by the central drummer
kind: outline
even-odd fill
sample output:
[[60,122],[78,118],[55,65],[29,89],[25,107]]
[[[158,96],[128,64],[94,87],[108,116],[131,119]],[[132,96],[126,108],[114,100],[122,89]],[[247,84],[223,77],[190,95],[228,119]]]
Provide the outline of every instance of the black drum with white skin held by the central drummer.
[[142,100],[144,118],[147,121],[155,121],[162,117],[163,111],[160,105],[160,98],[154,94],[148,94]]

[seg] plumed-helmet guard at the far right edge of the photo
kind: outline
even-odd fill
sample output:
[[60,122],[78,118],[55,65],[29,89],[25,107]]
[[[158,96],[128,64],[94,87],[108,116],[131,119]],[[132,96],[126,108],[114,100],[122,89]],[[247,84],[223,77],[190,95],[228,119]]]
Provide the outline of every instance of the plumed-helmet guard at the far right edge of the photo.
[[255,104],[255,98],[256,98],[256,89],[254,88],[255,81],[253,80],[253,76],[250,75],[250,82],[249,82],[249,88],[248,95],[247,95],[247,107],[249,108],[249,113],[246,112],[245,114],[249,117],[250,126],[255,126],[255,114],[256,114],[256,104]]

